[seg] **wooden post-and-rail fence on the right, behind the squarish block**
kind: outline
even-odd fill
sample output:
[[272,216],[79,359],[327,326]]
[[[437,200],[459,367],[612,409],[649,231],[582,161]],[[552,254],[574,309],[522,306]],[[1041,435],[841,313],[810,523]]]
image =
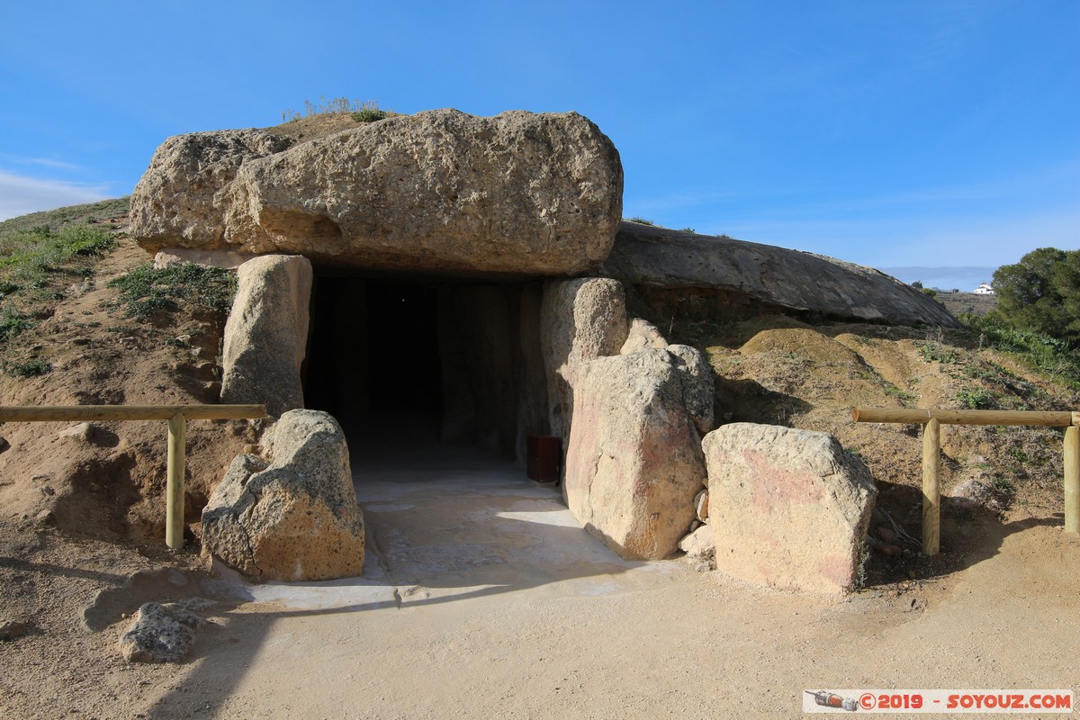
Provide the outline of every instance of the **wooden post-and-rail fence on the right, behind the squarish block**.
[[922,430],[922,553],[941,551],[941,426],[1052,425],[1065,427],[1065,530],[1080,533],[1080,412],[854,408],[855,422],[918,423]]

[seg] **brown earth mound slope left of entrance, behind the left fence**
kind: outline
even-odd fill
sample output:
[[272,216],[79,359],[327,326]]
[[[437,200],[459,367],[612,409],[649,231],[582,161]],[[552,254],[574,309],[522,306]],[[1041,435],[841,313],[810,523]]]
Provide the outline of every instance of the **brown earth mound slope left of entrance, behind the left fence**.
[[[116,279],[152,274],[146,253],[125,235],[126,202],[81,207],[0,228],[9,242],[27,226],[46,225],[39,235],[89,228],[111,241],[111,249],[48,264],[29,281],[21,266],[4,268],[13,289],[3,313],[19,322],[9,323],[4,337],[0,404],[216,402],[221,302],[186,300],[175,273],[161,276],[173,283],[164,291],[124,301]],[[242,422],[190,423],[188,433],[187,511],[194,519],[252,436]],[[149,545],[164,536],[163,423],[6,423],[0,434],[0,521]]]

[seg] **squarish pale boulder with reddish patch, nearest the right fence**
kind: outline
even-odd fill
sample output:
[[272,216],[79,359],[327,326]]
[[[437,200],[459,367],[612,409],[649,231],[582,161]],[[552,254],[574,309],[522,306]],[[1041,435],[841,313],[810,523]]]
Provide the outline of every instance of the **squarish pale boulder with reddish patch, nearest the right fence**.
[[854,586],[877,494],[862,461],[827,433],[742,422],[703,447],[717,570],[785,589]]

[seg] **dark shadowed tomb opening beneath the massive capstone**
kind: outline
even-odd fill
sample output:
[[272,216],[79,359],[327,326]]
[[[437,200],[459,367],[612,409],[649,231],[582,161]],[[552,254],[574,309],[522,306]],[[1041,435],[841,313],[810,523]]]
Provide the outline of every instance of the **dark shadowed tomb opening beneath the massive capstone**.
[[526,435],[548,434],[539,308],[539,284],[319,276],[305,405],[379,454],[524,458]]

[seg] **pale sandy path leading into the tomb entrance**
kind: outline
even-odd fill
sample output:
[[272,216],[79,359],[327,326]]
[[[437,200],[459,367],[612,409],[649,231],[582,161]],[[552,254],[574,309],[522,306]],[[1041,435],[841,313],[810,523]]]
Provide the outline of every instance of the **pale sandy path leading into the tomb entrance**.
[[1077,690],[1080,540],[1059,517],[837,600],[622,561],[512,464],[368,464],[356,489],[363,579],[232,579],[248,601],[99,717],[794,718],[806,689]]

